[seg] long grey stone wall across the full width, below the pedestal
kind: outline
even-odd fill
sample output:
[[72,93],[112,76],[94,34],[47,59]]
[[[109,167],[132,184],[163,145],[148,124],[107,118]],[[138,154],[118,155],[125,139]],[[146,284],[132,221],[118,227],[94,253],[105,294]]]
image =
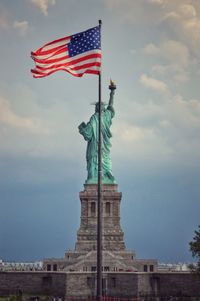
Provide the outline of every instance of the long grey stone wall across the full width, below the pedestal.
[[[45,294],[67,298],[95,296],[96,273],[92,272],[0,272],[0,296]],[[103,295],[137,296],[198,296],[200,275],[188,272],[168,273],[103,273]]]

